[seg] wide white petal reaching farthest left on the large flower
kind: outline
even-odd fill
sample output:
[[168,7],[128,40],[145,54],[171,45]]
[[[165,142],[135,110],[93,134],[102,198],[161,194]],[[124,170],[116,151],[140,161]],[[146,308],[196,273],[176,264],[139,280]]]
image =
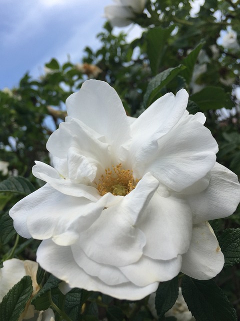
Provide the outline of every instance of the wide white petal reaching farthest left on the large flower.
[[23,237],[59,238],[66,231],[87,229],[99,217],[106,202],[107,197],[94,203],[64,195],[46,184],[14,205],[9,215],[15,230]]

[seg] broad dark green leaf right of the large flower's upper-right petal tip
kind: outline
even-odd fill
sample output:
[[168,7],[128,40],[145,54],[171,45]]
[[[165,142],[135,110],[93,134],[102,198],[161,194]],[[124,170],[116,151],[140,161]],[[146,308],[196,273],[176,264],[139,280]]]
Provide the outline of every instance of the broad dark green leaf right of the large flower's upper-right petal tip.
[[221,87],[208,86],[190,95],[189,99],[194,101],[201,111],[207,111],[228,107],[229,96]]

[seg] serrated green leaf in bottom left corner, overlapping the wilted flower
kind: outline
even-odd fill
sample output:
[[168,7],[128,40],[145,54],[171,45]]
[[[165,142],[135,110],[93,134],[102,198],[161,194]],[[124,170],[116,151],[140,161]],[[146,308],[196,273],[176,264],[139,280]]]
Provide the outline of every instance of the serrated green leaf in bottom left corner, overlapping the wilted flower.
[[[14,277],[12,275],[12,277]],[[18,321],[32,293],[30,276],[24,276],[3,297],[0,303],[0,320]]]

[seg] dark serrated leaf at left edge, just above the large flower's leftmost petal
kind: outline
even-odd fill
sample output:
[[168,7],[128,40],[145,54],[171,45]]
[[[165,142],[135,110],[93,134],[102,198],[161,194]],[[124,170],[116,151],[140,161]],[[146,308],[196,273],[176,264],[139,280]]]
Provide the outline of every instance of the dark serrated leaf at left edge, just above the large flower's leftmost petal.
[[12,192],[21,195],[28,195],[35,191],[33,185],[24,177],[10,176],[6,180],[0,182],[0,192]]

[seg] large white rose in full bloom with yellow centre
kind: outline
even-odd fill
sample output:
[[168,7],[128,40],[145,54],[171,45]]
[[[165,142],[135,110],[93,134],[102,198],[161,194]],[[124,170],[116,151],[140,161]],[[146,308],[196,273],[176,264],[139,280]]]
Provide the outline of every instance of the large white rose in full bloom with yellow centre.
[[10,211],[16,231],[43,240],[37,262],[70,287],[140,299],[179,271],[215,276],[224,263],[207,220],[233,213],[235,174],[215,163],[217,144],[188,95],[168,93],[137,119],[97,80],[66,100],[49,137],[47,182]]

